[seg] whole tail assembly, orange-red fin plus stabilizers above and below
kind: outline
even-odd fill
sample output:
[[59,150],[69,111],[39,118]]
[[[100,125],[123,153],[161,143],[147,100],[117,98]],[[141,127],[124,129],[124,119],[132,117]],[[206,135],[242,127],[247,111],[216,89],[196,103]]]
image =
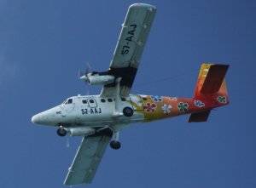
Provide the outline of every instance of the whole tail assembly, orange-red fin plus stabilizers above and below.
[[[195,85],[194,99],[218,101],[217,106],[228,104],[228,91],[224,80],[228,65],[202,64]],[[211,110],[192,113],[189,122],[207,122]]]

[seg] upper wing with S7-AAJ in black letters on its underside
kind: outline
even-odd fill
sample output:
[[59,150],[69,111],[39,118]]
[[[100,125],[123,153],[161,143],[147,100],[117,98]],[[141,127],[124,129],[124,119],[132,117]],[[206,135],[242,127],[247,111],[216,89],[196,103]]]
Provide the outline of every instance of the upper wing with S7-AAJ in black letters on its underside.
[[[130,93],[155,12],[156,8],[152,5],[136,3],[129,7],[126,14],[108,70],[114,77],[122,78],[120,82],[122,96]],[[108,84],[102,88],[101,96],[114,95],[115,84]]]

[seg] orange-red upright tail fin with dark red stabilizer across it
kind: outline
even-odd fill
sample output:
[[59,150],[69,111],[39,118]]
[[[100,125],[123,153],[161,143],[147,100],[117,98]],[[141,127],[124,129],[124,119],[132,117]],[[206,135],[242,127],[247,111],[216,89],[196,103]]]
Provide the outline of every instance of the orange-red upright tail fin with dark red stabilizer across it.
[[228,71],[228,65],[220,64],[202,64],[198,80],[195,86],[195,98],[201,98],[207,94],[224,94],[228,95],[224,77]]

